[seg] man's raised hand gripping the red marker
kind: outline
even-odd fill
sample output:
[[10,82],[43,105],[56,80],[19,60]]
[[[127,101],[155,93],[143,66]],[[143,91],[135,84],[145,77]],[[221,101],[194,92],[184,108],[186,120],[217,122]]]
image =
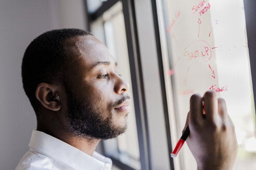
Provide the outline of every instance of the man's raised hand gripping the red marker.
[[185,127],[187,124],[190,134],[186,141],[197,161],[197,169],[232,169],[237,140],[225,100],[216,98],[213,91],[203,97],[192,95]]

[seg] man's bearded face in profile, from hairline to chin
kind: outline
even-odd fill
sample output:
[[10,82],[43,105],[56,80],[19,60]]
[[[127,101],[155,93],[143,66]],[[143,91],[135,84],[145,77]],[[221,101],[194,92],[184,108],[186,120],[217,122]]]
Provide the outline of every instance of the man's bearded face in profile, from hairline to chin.
[[94,36],[66,41],[67,54],[75,56],[67,75],[67,120],[77,136],[117,137],[126,129],[130,112],[129,89],[107,47]]

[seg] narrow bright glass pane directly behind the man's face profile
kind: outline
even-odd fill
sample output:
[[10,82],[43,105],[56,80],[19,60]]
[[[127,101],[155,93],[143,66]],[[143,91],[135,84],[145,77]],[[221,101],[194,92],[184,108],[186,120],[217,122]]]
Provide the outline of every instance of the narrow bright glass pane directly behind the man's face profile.
[[[118,9],[118,7],[121,8],[122,4],[118,3],[114,7],[117,7],[116,9]],[[112,10],[114,9],[112,8]],[[114,13],[111,13],[111,17],[106,17],[104,28],[106,36],[106,45],[108,49],[111,51],[113,57],[117,60],[118,67],[122,77],[131,85],[129,56],[127,52],[122,8],[120,10],[116,10]],[[128,94],[131,97],[133,96],[132,87],[129,90]],[[133,111],[130,113],[129,118],[127,120],[128,129],[125,134],[118,137],[118,144],[120,151],[130,154],[130,156],[138,160],[138,139],[137,135],[134,135],[137,133],[134,106],[132,106],[132,108]]]

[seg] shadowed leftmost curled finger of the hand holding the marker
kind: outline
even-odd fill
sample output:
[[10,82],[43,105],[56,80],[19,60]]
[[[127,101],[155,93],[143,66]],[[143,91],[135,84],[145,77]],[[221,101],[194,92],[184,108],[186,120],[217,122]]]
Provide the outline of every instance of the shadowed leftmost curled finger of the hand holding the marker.
[[194,125],[201,125],[202,117],[202,97],[194,94],[190,97],[190,121]]

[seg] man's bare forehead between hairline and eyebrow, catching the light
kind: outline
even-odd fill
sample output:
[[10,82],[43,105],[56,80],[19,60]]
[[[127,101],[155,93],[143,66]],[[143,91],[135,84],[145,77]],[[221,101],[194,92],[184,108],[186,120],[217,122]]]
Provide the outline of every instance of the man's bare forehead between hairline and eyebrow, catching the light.
[[98,62],[115,63],[108,48],[92,35],[72,37],[65,41],[67,53],[82,60],[87,68]]

